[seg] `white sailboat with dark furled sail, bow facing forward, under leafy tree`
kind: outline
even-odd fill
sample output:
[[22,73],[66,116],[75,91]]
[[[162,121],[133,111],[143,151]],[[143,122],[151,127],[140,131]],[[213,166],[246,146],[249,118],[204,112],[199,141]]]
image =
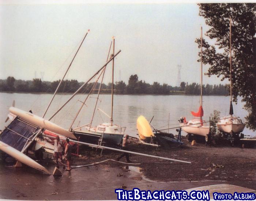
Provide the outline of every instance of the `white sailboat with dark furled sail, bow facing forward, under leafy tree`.
[[230,108],[229,108],[229,115],[226,117],[221,118],[217,123],[217,127],[219,131],[231,134],[231,138],[234,138],[234,134],[241,133],[244,128],[245,124],[239,117],[234,116],[233,112],[233,105],[232,105],[232,49],[231,49],[231,18],[230,18],[230,36],[229,36],[229,43],[230,43]]

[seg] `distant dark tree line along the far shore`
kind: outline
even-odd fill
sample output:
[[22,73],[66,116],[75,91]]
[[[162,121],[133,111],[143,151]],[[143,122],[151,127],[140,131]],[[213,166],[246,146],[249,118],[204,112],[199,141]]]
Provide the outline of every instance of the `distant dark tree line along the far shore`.
[[[56,81],[42,81],[41,79],[35,78],[33,80],[16,80],[14,77],[7,77],[6,80],[0,80],[0,91],[12,91],[12,92],[38,92],[38,93],[52,93],[56,90],[60,80]],[[83,82],[77,80],[63,80],[58,92],[60,93],[74,93]],[[94,86],[94,88],[93,88]],[[88,83],[85,85],[80,92],[89,93],[93,88],[93,93],[97,93],[100,83]],[[111,93],[112,84],[101,85],[102,93]],[[154,82],[153,84],[146,83],[145,81],[139,80],[138,75],[131,75],[129,77],[128,84],[124,81],[118,81],[114,84],[115,94],[186,94],[186,95],[199,95],[200,84],[192,83],[188,84],[182,82],[179,87],[172,87],[166,83],[160,84]],[[228,95],[227,86],[223,84],[219,85],[203,85],[204,95]]]

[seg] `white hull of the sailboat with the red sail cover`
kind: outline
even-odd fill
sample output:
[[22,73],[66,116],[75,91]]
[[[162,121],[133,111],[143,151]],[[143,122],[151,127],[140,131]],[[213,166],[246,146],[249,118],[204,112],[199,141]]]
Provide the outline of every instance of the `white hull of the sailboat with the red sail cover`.
[[210,132],[210,127],[201,125],[200,119],[193,119],[186,123],[180,123],[181,129],[189,134],[206,136]]

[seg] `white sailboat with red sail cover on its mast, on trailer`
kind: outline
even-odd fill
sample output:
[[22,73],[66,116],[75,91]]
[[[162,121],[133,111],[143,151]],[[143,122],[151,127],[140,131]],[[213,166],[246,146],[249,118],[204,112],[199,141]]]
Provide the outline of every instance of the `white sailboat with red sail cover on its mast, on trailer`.
[[[202,85],[203,85],[203,56],[202,56],[202,39],[203,38],[203,33],[202,33],[202,27],[201,27],[201,79],[200,79],[200,86],[201,86],[201,92],[200,92],[200,107],[198,109],[197,112],[191,112],[194,118],[190,121],[186,121],[185,117],[181,117],[180,118],[180,126],[182,128],[182,130],[184,130],[185,132],[188,133],[187,135],[187,139],[190,140],[191,139],[191,134],[193,135],[198,135],[198,136],[203,136],[205,137],[206,141],[208,141],[208,134],[210,133],[210,127],[207,125],[204,125],[204,122],[202,117],[204,115],[204,111],[203,111],[203,89],[202,89]],[[199,117],[199,118],[198,118]]]

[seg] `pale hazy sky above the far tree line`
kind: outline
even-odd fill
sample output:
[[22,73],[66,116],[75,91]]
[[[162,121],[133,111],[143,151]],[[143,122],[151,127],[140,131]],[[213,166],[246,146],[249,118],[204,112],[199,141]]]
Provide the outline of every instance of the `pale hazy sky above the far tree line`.
[[[200,81],[195,39],[201,26],[203,33],[209,27],[196,3],[23,2],[0,4],[0,79],[61,79],[90,29],[65,79],[87,81],[105,64],[114,36],[115,52],[121,50],[115,59],[115,81],[128,83],[137,74],[150,84],[176,86],[177,65],[181,81]],[[105,83],[111,81],[111,66]],[[207,69],[203,66],[204,73]],[[203,82],[221,83],[207,76]]]

